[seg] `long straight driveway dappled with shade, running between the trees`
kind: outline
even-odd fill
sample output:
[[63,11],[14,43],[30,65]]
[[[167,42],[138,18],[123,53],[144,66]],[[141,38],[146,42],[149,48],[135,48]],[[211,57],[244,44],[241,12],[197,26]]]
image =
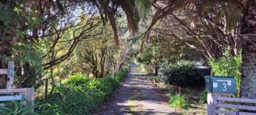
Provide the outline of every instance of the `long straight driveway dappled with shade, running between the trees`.
[[173,109],[161,100],[156,87],[146,80],[145,74],[131,65],[129,75],[113,100],[99,113],[100,115],[123,114],[173,114]]

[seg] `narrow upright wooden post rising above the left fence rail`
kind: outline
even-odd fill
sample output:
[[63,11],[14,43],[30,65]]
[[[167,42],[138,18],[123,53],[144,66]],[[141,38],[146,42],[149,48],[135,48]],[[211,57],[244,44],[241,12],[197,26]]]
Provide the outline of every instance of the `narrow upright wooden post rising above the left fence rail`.
[[14,80],[14,61],[10,61],[8,63],[8,70],[7,70],[7,89],[13,89],[13,80]]

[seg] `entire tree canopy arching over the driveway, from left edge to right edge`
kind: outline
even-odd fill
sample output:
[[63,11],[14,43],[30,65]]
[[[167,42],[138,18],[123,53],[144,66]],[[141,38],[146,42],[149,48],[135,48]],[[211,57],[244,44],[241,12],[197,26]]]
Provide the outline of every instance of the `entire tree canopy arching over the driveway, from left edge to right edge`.
[[242,57],[242,96],[255,98],[256,66],[251,64],[256,63],[255,4],[255,0],[3,0],[0,68],[14,60],[15,85],[39,87],[42,79],[54,81],[60,69],[103,77],[135,58],[152,70],[183,59],[207,64],[209,58],[221,59],[229,47],[230,55]]

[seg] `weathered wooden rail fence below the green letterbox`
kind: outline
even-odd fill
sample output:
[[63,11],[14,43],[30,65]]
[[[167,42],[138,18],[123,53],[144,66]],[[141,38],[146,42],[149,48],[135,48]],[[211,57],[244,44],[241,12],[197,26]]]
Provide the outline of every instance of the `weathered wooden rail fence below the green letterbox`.
[[[213,94],[211,92],[209,92],[207,96],[208,96],[207,97],[208,115],[216,115],[216,114],[256,115],[255,99],[227,98],[225,95]],[[236,103],[236,104],[231,104],[231,103]]]

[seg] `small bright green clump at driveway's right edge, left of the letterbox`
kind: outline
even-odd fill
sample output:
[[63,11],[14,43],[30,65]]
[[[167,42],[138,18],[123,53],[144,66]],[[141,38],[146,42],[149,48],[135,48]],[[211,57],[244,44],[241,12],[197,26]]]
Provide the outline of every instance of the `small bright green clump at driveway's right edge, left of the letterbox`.
[[169,106],[175,108],[176,110],[181,108],[187,108],[189,106],[187,98],[184,95],[170,96],[168,103]]

